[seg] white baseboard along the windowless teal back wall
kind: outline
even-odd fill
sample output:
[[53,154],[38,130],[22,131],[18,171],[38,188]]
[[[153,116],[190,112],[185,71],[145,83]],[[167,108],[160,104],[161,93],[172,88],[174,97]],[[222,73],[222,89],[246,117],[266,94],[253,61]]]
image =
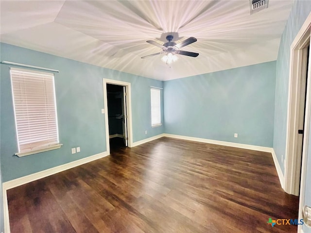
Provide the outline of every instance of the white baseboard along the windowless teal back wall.
[[270,152],[270,153],[272,152],[272,148],[270,147],[260,147],[260,146],[253,146],[253,145],[247,145],[247,144],[241,144],[241,143],[235,143],[235,142],[217,141],[217,140],[211,140],[211,139],[205,139],[205,138],[199,138],[199,137],[182,136],[182,135],[169,134],[169,133],[163,133],[163,134],[164,134],[164,137],[172,137],[172,138],[177,138],[177,139],[217,144],[221,146],[236,147],[236,148],[242,148],[242,149],[248,149],[248,150],[258,150],[258,151],[264,151],[264,152]]

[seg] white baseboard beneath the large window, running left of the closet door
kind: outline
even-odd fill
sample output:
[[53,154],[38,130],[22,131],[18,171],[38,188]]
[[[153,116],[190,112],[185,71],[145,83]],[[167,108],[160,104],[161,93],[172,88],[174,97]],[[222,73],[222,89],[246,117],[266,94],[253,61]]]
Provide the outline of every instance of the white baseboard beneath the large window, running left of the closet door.
[[34,174],[30,174],[30,175],[27,175],[27,176],[23,176],[23,177],[14,179],[12,181],[7,181],[7,182],[2,183],[4,232],[5,233],[10,233],[8,199],[7,199],[7,194],[6,194],[6,191],[8,189],[15,188],[15,187],[17,187],[19,185],[22,185],[22,184],[25,184],[25,183],[30,183],[32,181],[39,180],[39,179],[42,179],[42,178],[47,177],[47,176],[51,176],[53,174],[56,174],[56,173],[61,172],[61,171],[68,170],[68,169],[73,168],[75,166],[80,166],[80,165],[89,163],[91,161],[103,158],[103,157],[105,157],[107,155],[109,155],[107,153],[107,151],[104,151],[104,152],[99,153],[99,154],[95,154],[95,155],[92,155],[92,156],[89,156],[89,157],[86,157],[86,158],[83,158],[83,159],[72,161],[72,162],[70,162],[68,164],[63,164],[63,165],[60,165],[60,166],[55,166],[55,167],[52,167],[52,168],[49,168],[49,169],[46,169],[46,170],[43,170],[43,171],[36,172]]

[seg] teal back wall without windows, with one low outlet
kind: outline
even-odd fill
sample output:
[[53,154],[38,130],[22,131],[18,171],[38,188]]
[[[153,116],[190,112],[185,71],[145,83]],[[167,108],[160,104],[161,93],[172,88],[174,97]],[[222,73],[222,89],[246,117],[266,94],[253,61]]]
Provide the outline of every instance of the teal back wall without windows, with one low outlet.
[[272,147],[275,76],[268,62],[164,82],[165,133]]

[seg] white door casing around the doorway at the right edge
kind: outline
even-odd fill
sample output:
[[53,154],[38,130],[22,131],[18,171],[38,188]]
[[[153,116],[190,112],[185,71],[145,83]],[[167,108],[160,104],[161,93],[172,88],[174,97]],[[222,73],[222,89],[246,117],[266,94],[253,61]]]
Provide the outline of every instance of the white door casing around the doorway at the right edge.
[[[299,214],[298,219],[302,218],[302,207],[305,200],[305,186],[306,186],[306,166],[308,157],[308,144],[309,144],[309,129],[310,129],[310,116],[311,116],[311,59],[308,64],[307,74],[307,89],[306,89],[306,109],[305,109],[305,124],[304,124],[304,137],[303,148],[301,155],[301,147],[299,148],[299,135],[298,129],[299,118],[301,117],[301,82],[306,77],[306,47],[310,44],[311,37],[311,13],[305,20],[301,29],[297,33],[290,49],[290,72],[289,72],[289,92],[288,92],[288,113],[287,113],[287,133],[286,133],[286,150],[285,150],[285,192],[293,195],[299,194]],[[301,100],[301,101],[300,101]],[[300,110],[300,111],[299,111]],[[300,116],[299,116],[300,113]],[[300,139],[301,140],[301,139]],[[301,159],[301,160],[300,160]],[[300,163],[301,161],[301,163]],[[301,167],[301,174],[300,173]],[[300,191],[299,191],[300,183]],[[297,232],[300,233],[302,225],[298,225]]]

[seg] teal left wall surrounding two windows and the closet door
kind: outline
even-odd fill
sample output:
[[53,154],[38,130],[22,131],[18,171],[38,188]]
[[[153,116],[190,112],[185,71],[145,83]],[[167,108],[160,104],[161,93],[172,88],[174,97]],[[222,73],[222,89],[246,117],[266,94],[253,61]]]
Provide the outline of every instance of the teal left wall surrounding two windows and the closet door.
[[[17,140],[9,66],[1,65],[1,172],[3,182],[106,151],[103,78],[131,83],[133,142],[163,133],[151,127],[150,86],[163,82],[96,67],[51,54],[1,44],[1,60],[49,67],[55,73],[60,143],[58,150],[17,157]],[[162,98],[163,99],[163,98]],[[148,134],[145,134],[145,130]],[[71,148],[81,152],[71,154]]]

